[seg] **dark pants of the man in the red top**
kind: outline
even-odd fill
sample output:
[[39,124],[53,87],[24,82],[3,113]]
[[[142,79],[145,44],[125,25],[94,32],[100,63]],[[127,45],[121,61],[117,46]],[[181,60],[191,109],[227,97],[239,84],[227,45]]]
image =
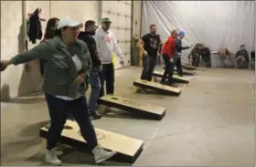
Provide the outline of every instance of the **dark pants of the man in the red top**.
[[174,68],[175,64],[177,61],[177,58],[174,58],[174,62],[171,63],[168,55],[164,54],[162,55],[164,62],[165,62],[165,72],[163,75],[163,78],[161,79],[161,82],[165,82],[165,79],[167,78],[168,75],[168,83],[172,84],[173,83],[173,75],[174,75]]

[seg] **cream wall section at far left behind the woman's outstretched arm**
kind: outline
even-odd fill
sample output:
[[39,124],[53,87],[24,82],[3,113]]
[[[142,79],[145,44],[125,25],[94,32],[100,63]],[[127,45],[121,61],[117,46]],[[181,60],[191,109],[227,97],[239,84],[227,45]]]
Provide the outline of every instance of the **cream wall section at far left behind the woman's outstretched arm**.
[[[1,59],[8,59],[18,53],[21,14],[21,1],[1,1]],[[23,66],[11,66],[1,73],[1,88],[4,89],[1,90],[1,96],[8,96],[8,87],[12,96],[17,95],[22,71]]]

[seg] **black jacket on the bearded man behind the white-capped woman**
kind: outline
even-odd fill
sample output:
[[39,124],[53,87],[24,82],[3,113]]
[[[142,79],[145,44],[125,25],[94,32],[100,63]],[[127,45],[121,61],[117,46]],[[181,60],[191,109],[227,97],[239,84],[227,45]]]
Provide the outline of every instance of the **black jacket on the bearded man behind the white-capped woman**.
[[90,55],[91,55],[91,62],[92,62],[93,67],[100,67],[101,59],[98,55],[96,41],[92,37],[91,33],[80,32],[78,38],[87,44]]

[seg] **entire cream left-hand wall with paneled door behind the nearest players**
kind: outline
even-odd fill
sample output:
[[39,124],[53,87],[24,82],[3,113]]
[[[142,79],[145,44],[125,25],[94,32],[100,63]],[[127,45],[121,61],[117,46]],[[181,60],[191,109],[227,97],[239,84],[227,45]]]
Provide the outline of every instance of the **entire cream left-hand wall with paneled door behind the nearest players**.
[[[139,1],[137,1],[139,2]],[[120,46],[123,53],[126,53],[125,66],[130,65],[131,59],[131,21],[133,14],[131,13],[132,1],[25,1],[26,14],[33,13],[36,8],[42,8],[40,17],[49,19],[50,17],[65,17],[69,16],[75,21],[82,23],[85,20],[95,20],[99,25],[99,20],[102,16],[109,16],[112,20],[112,31],[121,42]],[[102,4],[101,4],[102,3]],[[139,16],[134,16],[138,20],[138,25],[135,27],[135,32],[140,31],[140,3],[135,4],[136,13]],[[16,56],[24,51],[24,29],[22,27],[22,2],[21,1],[1,1],[1,59],[8,59]],[[101,11],[100,11],[101,10]],[[111,11],[112,14],[108,14]],[[117,14],[121,14],[118,16]],[[127,16],[127,17],[125,17]],[[45,32],[47,22],[42,22],[43,33]],[[122,27],[123,29],[117,29]],[[126,28],[126,29],[125,29]],[[37,40],[37,44],[40,41]],[[37,45],[36,44],[36,45]],[[28,48],[35,45],[29,43]],[[116,59],[119,62],[119,59]],[[41,82],[39,74],[38,61],[29,63],[31,71],[25,72],[24,65],[17,67],[10,66],[1,73],[1,99],[27,95],[33,91],[37,91],[38,85]],[[122,68],[119,63],[116,63],[115,68]]]

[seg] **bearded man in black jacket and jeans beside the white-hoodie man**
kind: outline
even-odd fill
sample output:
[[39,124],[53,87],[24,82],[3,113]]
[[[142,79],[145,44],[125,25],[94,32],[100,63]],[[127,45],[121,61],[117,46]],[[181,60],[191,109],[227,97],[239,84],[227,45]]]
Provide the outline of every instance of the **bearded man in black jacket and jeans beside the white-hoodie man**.
[[91,55],[92,69],[90,74],[90,84],[91,84],[91,96],[89,99],[89,114],[94,120],[101,119],[101,114],[96,110],[97,101],[99,99],[99,93],[101,89],[101,80],[99,73],[101,71],[101,59],[98,56],[98,51],[96,47],[96,41],[92,37],[95,35],[95,22],[93,20],[88,20],[85,22],[84,32],[80,32],[78,38],[83,40],[89,49]]

